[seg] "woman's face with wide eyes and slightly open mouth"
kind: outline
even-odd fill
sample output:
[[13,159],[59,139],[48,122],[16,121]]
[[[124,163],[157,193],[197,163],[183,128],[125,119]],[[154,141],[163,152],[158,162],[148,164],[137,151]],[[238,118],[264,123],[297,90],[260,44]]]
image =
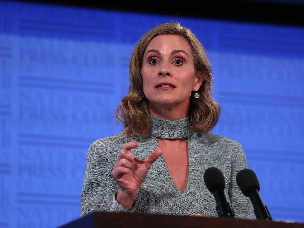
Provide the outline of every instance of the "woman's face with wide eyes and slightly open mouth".
[[177,35],[159,35],[151,40],[143,56],[141,75],[144,95],[154,107],[189,107],[191,92],[197,91],[203,81],[196,75],[190,45]]

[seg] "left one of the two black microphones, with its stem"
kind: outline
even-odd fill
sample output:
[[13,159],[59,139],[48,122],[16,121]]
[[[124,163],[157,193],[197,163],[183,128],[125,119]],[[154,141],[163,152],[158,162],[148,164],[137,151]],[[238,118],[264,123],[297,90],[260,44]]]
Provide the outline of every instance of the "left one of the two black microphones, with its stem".
[[233,217],[231,207],[224,194],[225,179],[223,173],[218,168],[208,168],[204,173],[204,181],[209,192],[214,195],[216,212],[219,217]]

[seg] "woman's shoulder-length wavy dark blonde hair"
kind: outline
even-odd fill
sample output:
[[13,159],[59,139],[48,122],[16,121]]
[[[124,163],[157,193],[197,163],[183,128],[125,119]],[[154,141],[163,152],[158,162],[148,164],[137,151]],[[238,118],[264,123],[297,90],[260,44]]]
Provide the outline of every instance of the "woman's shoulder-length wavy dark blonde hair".
[[143,93],[141,67],[148,44],[158,35],[178,35],[188,41],[193,54],[195,71],[198,73],[198,77],[204,79],[198,90],[199,98],[195,99],[192,95],[190,99],[191,126],[189,127],[199,134],[208,133],[218,122],[221,112],[219,104],[211,97],[213,80],[211,66],[204,47],[196,36],[189,29],[175,22],[154,27],[140,39],[133,50],[129,64],[129,93],[115,110],[116,122],[121,121],[123,123],[124,133],[128,137],[147,137],[149,135],[150,116],[148,100]]

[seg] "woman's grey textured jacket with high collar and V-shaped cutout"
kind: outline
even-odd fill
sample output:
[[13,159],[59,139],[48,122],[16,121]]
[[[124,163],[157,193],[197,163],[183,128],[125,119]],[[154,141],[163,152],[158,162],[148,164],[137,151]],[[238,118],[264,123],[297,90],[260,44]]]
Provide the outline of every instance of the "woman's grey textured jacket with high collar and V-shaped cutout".
[[87,154],[87,168],[81,193],[81,216],[94,211],[108,211],[109,203],[119,186],[111,175],[124,143],[138,141],[132,149],[138,159],[146,159],[159,146],[157,138],[188,137],[188,185],[181,193],[174,184],[163,157],[149,170],[147,179],[136,199],[136,212],[190,215],[193,213],[217,217],[216,202],[204,183],[204,172],[209,167],[219,168],[225,177],[224,193],[234,217],[256,219],[249,198],[237,186],[236,175],[247,168],[240,143],[212,133],[198,134],[188,128],[189,117],[169,121],[150,116],[150,134],[146,138],[128,138],[124,133],[93,142]]

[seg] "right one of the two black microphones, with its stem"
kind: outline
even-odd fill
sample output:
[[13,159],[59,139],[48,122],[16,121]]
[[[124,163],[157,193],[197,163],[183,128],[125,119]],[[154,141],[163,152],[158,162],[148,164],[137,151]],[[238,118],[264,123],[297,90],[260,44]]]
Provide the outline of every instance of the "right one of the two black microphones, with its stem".
[[264,205],[259,194],[260,184],[257,180],[257,175],[251,169],[243,169],[237,174],[237,185],[243,194],[249,197],[252,206],[254,207],[255,216],[257,219],[272,220],[268,208]]

